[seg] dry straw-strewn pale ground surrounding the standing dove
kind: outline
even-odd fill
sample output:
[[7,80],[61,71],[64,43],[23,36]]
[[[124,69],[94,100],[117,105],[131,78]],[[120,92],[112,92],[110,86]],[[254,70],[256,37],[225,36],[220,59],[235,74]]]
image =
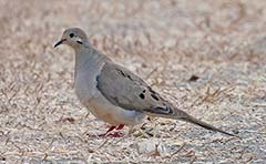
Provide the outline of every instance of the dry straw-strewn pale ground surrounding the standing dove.
[[[108,125],[76,100],[73,51],[53,49],[70,27],[242,140],[166,119],[91,137]],[[0,0],[0,163],[266,163],[264,0]]]

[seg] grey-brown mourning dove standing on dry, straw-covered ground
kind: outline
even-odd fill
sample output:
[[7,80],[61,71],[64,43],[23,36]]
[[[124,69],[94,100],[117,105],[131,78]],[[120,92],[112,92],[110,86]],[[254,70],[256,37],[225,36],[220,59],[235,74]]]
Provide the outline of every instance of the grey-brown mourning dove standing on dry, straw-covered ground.
[[141,124],[149,115],[182,120],[235,136],[177,109],[141,78],[94,49],[81,29],[65,30],[54,48],[60,44],[68,44],[75,51],[74,88],[78,99],[94,116],[112,125],[103,135],[124,125]]

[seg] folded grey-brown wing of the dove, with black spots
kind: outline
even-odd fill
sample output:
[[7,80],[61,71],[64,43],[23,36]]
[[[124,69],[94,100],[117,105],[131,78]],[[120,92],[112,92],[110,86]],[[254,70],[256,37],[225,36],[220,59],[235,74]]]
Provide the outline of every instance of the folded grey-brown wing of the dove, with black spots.
[[130,70],[106,62],[96,78],[98,89],[114,105],[151,114],[173,114],[171,104]]

